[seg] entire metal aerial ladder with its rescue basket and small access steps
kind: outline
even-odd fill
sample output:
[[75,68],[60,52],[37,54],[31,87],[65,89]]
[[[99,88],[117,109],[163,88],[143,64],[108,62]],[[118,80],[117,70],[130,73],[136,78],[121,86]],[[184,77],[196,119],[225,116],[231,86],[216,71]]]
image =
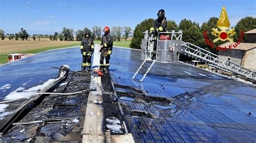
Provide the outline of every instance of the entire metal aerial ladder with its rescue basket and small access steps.
[[[157,38],[159,38],[160,34],[168,34],[171,39],[157,41],[153,41],[151,37],[149,37],[149,31],[145,31],[143,33],[144,38],[142,39],[142,52],[140,59],[144,61],[133,75],[133,80],[142,82],[155,62],[171,63],[179,61],[179,55],[184,54],[199,61],[210,63],[211,66],[215,68],[229,71],[253,82],[256,81],[256,72],[254,70],[242,67],[228,59],[221,58],[220,56],[206,51],[205,49],[191,44],[190,42],[181,41],[182,31],[159,32]],[[154,42],[157,42],[156,60],[152,60]]]

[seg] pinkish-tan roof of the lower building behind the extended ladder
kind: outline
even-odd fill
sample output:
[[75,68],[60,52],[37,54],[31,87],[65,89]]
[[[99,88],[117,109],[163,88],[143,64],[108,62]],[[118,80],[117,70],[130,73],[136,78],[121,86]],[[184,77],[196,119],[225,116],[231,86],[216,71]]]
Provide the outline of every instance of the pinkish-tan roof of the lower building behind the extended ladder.
[[[236,42],[226,42],[223,45],[220,45],[220,47],[225,47],[228,48],[229,45],[237,45]],[[237,45],[236,47],[231,47],[231,49],[241,49],[241,50],[245,50],[248,51],[250,49],[253,49],[256,47],[256,43],[247,43],[247,42],[241,42],[239,45]]]

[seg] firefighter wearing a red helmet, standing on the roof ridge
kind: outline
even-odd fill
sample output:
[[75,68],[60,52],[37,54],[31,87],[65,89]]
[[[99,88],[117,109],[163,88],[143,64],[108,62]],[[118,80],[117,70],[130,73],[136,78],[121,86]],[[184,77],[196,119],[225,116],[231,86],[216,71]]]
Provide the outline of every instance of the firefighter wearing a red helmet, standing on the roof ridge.
[[[100,42],[100,70],[109,72],[109,60],[112,54],[113,37],[110,35],[110,28],[104,27],[104,35],[102,35],[102,41]],[[106,65],[104,64],[104,58],[106,59]]]

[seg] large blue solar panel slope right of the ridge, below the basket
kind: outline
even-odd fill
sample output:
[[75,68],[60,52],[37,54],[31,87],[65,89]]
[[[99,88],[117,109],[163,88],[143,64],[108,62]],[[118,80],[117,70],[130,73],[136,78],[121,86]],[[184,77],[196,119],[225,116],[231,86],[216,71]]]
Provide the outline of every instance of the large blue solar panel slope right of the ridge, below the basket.
[[[255,142],[256,88],[180,62],[156,63],[142,83],[132,76],[140,51],[114,48],[110,74],[116,84],[169,98],[170,106],[122,97],[126,124],[136,142]],[[117,93],[118,95],[118,93]],[[154,116],[131,116],[145,111]]]

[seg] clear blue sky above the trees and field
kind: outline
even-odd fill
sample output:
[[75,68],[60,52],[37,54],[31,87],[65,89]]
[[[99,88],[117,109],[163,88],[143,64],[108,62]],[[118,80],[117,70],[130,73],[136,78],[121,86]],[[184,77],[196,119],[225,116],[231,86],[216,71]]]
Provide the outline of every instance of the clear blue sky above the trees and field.
[[133,29],[144,19],[157,18],[164,9],[167,20],[179,24],[190,19],[199,25],[211,17],[220,16],[225,6],[231,26],[247,16],[256,17],[255,0],[215,1],[67,1],[67,0],[0,0],[0,28],[6,33],[19,32],[23,27],[29,34],[53,34],[63,27],[75,31],[92,26],[131,26]]

